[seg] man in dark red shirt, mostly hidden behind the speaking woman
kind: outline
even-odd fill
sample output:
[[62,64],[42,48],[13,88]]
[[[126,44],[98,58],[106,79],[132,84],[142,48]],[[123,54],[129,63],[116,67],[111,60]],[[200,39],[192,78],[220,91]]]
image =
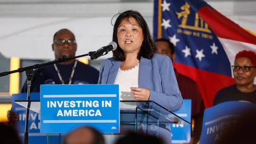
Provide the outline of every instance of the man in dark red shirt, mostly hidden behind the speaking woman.
[[[155,41],[157,46],[157,54],[162,54],[168,56],[173,62],[175,60],[175,47],[174,44],[169,40],[161,38]],[[197,86],[197,83],[182,75],[179,74],[177,70],[175,70],[175,75],[177,78],[177,82],[179,85],[179,89],[183,99],[191,99],[192,101],[192,125],[194,124],[194,128],[192,129],[192,137],[190,143],[197,143],[200,139],[201,128],[203,122],[203,111],[204,104],[203,100]]]

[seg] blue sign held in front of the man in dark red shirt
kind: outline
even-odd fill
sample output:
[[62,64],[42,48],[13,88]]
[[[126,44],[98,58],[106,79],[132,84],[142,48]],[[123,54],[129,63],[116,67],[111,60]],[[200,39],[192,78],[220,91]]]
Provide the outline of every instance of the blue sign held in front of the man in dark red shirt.
[[[191,100],[184,99],[181,109],[174,113],[191,123]],[[190,141],[191,125],[171,124],[170,129],[173,134],[172,143],[188,143]]]

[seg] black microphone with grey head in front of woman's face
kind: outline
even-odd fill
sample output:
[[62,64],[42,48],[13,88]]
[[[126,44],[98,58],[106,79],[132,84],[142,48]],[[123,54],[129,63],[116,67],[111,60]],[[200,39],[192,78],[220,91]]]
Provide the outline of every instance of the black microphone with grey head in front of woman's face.
[[91,55],[91,60],[97,59],[100,56],[104,56],[108,54],[110,51],[115,51],[117,48],[117,44],[114,41],[111,41],[109,45],[101,47],[99,50],[97,50],[95,53]]

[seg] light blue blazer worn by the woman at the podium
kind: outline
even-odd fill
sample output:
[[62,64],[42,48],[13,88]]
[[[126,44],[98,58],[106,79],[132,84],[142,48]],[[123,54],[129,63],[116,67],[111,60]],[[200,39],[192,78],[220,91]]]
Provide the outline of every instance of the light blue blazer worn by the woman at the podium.
[[[99,84],[114,84],[121,61],[113,58],[102,61]],[[172,61],[155,54],[153,58],[141,57],[139,63],[139,87],[150,89],[150,100],[170,111],[178,111],[183,99],[178,87]]]

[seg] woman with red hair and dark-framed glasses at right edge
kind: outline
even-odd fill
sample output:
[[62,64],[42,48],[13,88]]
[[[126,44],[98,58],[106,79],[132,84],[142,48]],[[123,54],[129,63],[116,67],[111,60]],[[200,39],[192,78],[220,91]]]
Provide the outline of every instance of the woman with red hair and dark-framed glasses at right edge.
[[236,85],[223,88],[215,95],[213,106],[227,101],[247,101],[256,104],[256,54],[241,51],[232,65]]

